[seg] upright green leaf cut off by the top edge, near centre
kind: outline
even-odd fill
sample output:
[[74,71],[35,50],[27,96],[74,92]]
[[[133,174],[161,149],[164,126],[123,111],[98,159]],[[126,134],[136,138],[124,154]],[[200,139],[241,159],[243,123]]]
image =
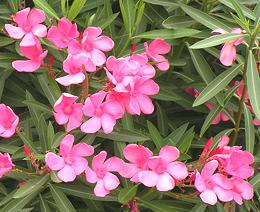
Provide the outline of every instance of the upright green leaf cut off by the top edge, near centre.
[[135,4],[133,0],[119,0],[120,10],[123,17],[125,28],[129,37],[132,36],[134,20],[136,15]]

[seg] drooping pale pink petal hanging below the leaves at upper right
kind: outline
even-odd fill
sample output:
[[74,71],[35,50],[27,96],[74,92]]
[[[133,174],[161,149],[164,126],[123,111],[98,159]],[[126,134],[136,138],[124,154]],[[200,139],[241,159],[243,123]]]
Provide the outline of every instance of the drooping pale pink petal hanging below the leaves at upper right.
[[225,43],[220,52],[220,62],[225,66],[231,66],[236,60],[236,47],[233,43]]

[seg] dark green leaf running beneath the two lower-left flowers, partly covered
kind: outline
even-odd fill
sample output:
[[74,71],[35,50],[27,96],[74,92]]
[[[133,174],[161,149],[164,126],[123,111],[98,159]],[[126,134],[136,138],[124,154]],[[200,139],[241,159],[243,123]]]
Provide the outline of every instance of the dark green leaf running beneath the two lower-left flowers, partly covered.
[[86,186],[81,185],[68,185],[68,184],[60,184],[56,185],[61,191],[68,195],[72,195],[75,197],[79,197],[82,199],[90,199],[90,200],[97,200],[97,201],[117,201],[117,198],[109,195],[106,197],[97,197],[92,190],[90,190]]

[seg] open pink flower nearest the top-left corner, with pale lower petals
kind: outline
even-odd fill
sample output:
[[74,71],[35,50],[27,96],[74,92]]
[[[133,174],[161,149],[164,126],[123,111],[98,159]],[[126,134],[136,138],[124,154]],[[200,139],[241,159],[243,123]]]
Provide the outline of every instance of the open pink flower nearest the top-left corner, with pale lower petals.
[[47,28],[43,23],[45,21],[45,14],[42,10],[29,7],[16,13],[13,18],[17,26],[5,24],[5,29],[9,36],[14,39],[21,39],[20,46],[34,46],[35,40],[32,37],[45,37]]

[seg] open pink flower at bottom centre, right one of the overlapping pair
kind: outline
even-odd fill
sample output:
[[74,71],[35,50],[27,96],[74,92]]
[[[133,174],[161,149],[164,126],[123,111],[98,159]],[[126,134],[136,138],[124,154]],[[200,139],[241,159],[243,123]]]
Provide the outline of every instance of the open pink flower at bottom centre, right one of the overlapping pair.
[[159,156],[150,157],[148,167],[150,170],[140,171],[139,182],[147,187],[156,186],[158,191],[169,191],[175,187],[175,181],[183,180],[188,176],[184,163],[173,162],[180,156],[176,147],[164,146]]

